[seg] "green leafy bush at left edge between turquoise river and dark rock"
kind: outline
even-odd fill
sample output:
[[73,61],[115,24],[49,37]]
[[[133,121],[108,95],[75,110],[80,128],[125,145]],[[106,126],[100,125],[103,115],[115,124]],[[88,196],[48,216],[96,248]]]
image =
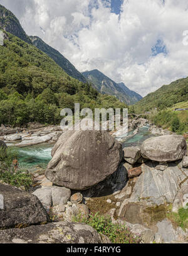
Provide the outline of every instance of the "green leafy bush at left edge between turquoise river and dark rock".
[[14,172],[12,162],[17,157],[18,152],[16,150],[0,148],[0,180],[15,187],[23,186],[24,189],[28,190],[33,184],[33,178],[26,170],[19,169]]

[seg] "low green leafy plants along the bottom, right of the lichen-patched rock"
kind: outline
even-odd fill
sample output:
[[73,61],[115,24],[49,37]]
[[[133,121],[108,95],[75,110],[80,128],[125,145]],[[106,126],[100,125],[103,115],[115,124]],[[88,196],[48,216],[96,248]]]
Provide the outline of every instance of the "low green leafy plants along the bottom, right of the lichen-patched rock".
[[110,216],[100,216],[99,213],[91,214],[88,220],[75,218],[74,221],[85,222],[92,226],[98,233],[106,235],[112,243],[140,243],[141,240],[135,237],[125,225],[113,224]]

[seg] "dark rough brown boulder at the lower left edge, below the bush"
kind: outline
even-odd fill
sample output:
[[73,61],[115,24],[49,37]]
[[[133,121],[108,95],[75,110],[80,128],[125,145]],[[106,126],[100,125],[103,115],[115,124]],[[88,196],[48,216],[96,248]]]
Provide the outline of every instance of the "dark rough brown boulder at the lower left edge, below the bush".
[[0,184],[0,228],[36,225],[49,221],[48,214],[33,194]]

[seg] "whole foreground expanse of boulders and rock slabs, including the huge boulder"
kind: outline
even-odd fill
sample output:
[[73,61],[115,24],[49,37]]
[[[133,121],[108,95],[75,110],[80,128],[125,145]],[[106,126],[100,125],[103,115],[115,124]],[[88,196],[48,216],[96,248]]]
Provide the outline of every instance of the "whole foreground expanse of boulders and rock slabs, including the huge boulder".
[[[163,135],[122,149],[107,131],[66,131],[51,154],[47,186],[34,187],[33,194],[0,183],[0,228],[6,228],[0,242],[110,243],[91,226],[73,223],[87,220],[92,209],[144,243],[188,242],[188,229],[168,219],[187,203],[183,136]],[[49,223],[49,215],[56,222]]]

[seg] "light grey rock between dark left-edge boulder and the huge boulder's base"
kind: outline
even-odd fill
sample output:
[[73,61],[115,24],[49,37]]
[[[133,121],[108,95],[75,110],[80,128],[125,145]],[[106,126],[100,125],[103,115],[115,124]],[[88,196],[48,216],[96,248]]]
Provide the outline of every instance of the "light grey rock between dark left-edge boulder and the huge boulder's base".
[[52,206],[66,204],[70,199],[71,191],[66,187],[52,186],[36,189],[33,194],[38,197],[44,208],[49,210]]

